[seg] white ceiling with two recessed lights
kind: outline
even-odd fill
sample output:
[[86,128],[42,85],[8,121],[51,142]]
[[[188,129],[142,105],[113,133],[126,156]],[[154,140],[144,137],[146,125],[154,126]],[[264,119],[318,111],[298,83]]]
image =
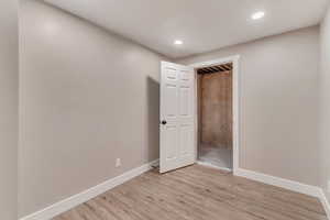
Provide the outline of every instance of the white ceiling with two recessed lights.
[[[310,26],[328,0],[45,0],[172,58]],[[265,11],[264,19],[251,14]],[[183,45],[174,45],[183,40]]]

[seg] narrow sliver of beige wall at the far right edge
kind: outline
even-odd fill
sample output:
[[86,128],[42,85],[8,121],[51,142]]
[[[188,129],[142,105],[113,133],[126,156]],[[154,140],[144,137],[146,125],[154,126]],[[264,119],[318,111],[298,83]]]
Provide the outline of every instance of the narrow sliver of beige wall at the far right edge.
[[[330,9],[321,24],[321,70],[320,70],[320,155],[321,186],[330,201]],[[330,187],[330,186],[329,186]]]

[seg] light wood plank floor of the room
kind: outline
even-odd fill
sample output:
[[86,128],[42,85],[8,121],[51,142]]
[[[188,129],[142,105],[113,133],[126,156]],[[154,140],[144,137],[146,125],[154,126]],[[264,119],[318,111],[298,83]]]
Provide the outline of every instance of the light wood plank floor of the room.
[[317,198],[194,165],[145,173],[54,220],[326,220]]

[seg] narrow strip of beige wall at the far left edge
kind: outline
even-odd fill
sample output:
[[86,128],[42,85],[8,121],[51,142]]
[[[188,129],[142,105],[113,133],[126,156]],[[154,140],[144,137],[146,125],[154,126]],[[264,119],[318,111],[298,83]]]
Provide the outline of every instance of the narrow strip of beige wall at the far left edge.
[[0,1],[0,219],[16,219],[18,2]]

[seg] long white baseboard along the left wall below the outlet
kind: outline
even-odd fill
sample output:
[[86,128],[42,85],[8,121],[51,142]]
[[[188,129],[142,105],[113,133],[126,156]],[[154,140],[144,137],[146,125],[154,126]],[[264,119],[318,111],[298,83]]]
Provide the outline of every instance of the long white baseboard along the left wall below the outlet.
[[120,176],[111,178],[102,184],[99,184],[92,188],[89,188],[80,194],[74,195],[67,199],[64,199],[59,202],[56,202],[41,211],[34,212],[26,217],[21,218],[20,220],[50,220],[69,209],[84,204],[112,188],[119,186],[152,168],[152,166],[157,165],[158,160],[144,164],[138,168],[131,169]]

